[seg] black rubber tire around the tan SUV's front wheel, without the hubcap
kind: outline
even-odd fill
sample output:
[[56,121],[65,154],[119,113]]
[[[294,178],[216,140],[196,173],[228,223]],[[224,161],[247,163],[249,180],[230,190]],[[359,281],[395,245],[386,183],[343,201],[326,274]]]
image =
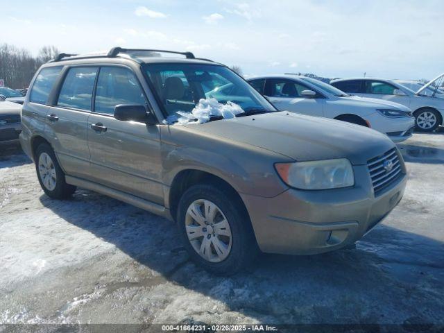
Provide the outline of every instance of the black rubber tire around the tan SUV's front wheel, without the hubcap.
[[[187,210],[191,203],[200,199],[210,200],[214,203],[223,212],[230,225],[232,235],[231,250],[228,256],[221,262],[210,262],[201,257],[194,247],[191,246],[191,242],[188,239],[185,223]],[[223,186],[216,187],[210,184],[194,185],[187,189],[182,198],[180,198],[177,216],[180,238],[191,259],[210,273],[232,275],[239,271],[244,271],[253,264],[259,252],[248,213],[242,207],[243,204],[238,201],[233,200],[230,190],[224,189]],[[214,250],[214,247],[212,250]]]

